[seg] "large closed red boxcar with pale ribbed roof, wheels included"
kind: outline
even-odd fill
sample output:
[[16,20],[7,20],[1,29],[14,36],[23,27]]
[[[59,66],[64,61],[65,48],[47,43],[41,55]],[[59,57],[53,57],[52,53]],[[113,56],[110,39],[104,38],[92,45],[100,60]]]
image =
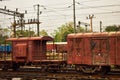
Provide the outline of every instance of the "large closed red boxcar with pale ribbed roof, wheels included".
[[120,67],[120,32],[69,34],[67,42],[67,63],[77,70],[108,72],[111,65]]

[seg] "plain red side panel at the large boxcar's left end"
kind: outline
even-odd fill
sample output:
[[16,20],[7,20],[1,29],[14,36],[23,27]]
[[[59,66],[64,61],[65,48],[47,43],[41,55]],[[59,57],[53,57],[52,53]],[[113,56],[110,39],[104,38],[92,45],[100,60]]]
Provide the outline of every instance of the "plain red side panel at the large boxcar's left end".
[[70,38],[68,40],[68,63],[83,64],[84,62],[83,38]]

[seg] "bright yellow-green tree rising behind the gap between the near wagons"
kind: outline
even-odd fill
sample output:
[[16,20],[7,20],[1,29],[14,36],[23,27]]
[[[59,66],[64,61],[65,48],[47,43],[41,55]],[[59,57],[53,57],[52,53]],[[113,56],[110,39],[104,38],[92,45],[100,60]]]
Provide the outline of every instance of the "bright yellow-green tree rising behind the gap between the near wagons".
[[[84,29],[82,27],[79,28],[83,32]],[[61,25],[57,30],[52,34],[56,42],[65,42],[67,41],[67,35],[70,33],[74,33],[73,22],[69,22]]]

